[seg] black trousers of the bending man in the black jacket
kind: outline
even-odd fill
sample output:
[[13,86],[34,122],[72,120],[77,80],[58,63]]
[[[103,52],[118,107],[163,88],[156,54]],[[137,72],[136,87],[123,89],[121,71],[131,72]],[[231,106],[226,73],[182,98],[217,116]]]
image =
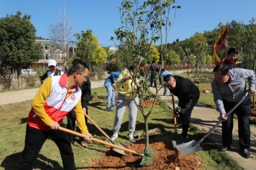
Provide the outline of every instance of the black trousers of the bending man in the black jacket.
[[191,118],[191,113],[197,104],[199,100],[200,95],[198,97],[192,98],[188,100],[186,103],[186,106],[182,109],[184,109],[184,114],[180,114],[180,119],[182,122],[182,135],[187,136],[188,135],[188,128],[190,124],[190,118]]

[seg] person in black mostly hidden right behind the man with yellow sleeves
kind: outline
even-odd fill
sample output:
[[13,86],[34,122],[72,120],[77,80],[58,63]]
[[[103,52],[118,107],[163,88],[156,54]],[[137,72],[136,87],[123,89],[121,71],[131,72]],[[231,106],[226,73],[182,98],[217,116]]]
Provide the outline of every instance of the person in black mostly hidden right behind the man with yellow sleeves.
[[[74,65],[74,63],[76,63],[77,61],[82,61],[82,60],[74,59],[74,61],[72,62],[72,65]],[[82,108],[83,108],[84,114],[88,114],[88,104],[92,94],[91,82],[89,77],[87,78],[86,82],[84,82],[84,84],[80,86],[80,88],[82,91],[82,95],[81,95]],[[87,125],[87,121],[88,121],[87,118],[85,118],[86,125]],[[67,128],[70,130],[74,130],[75,127],[76,127],[76,117],[74,115],[74,111],[72,110],[67,114]],[[75,136],[73,134],[68,134],[68,138],[70,140],[70,144],[75,143]],[[79,143],[81,144],[81,146],[87,147],[87,143],[86,141],[84,141],[83,137],[79,137]]]

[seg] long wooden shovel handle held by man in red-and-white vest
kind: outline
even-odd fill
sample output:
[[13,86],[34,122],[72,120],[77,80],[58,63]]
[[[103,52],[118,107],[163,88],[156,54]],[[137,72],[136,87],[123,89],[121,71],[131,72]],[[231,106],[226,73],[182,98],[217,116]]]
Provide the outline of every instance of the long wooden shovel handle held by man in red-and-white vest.
[[[75,131],[73,131],[73,130],[69,130],[69,129],[67,129],[67,128],[61,127],[60,130],[62,130],[62,131],[64,131],[64,132],[67,132],[67,133],[70,133],[70,134],[73,134],[73,135],[78,135],[78,136],[80,136],[80,137],[85,137],[85,135],[83,135],[83,134],[81,134],[81,133],[78,133],[78,132],[75,132]],[[108,143],[108,142],[102,141],[102,140],[100,140],[100,139],[96,139],[96,138],[94,138],[94,137],[92,137],[92,141],[95,141],[95,142],[101,143],[101,144],[105,144],[105,145],[111,146],[111,147],[113,147],[113,148],[118,148],[119,150],[129,151],[130,153],[134,153],[134,154],[136,154],[136,155],[141,155],[141,156],[143,156],[143,157],[145,156],[143,153],[138,153],[137,151],[129,150],[129,149],[127,149],[127,148],[123,148],[123,147],[118,146],[118,145],[116,145],[116,144]]]

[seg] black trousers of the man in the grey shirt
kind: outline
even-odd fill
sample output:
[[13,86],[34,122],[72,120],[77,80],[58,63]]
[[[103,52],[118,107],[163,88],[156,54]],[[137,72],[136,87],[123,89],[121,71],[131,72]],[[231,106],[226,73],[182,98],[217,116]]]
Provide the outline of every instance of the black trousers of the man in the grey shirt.
[[[225,111],[230,111],[237,103],[228,102],[223,98],[223,104]],[[239,135],[239,147],[242,149],[250,148],[250,122],[249,116],[252,113],[251,98],[246,98],[234,111],[237,112],[238,120],[238,135]],[[232,131],[234,127],[233,118],[234,112],[232,112],[227,121],[222,123],[222,143],[224,145],[232,144]]]

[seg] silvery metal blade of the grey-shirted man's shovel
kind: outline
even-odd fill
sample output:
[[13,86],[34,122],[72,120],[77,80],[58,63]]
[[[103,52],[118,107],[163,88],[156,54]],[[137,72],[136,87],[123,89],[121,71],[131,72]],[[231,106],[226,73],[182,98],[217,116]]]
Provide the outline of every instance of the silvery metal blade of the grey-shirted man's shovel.
[[186,155],[195,153],[196,151],[200,151],[203,149],[200,146],[200,144],[196,143],[195,140],[190,141],[188,143],[177,144],[176,148],[181,153],[182,156],[186,156]]

